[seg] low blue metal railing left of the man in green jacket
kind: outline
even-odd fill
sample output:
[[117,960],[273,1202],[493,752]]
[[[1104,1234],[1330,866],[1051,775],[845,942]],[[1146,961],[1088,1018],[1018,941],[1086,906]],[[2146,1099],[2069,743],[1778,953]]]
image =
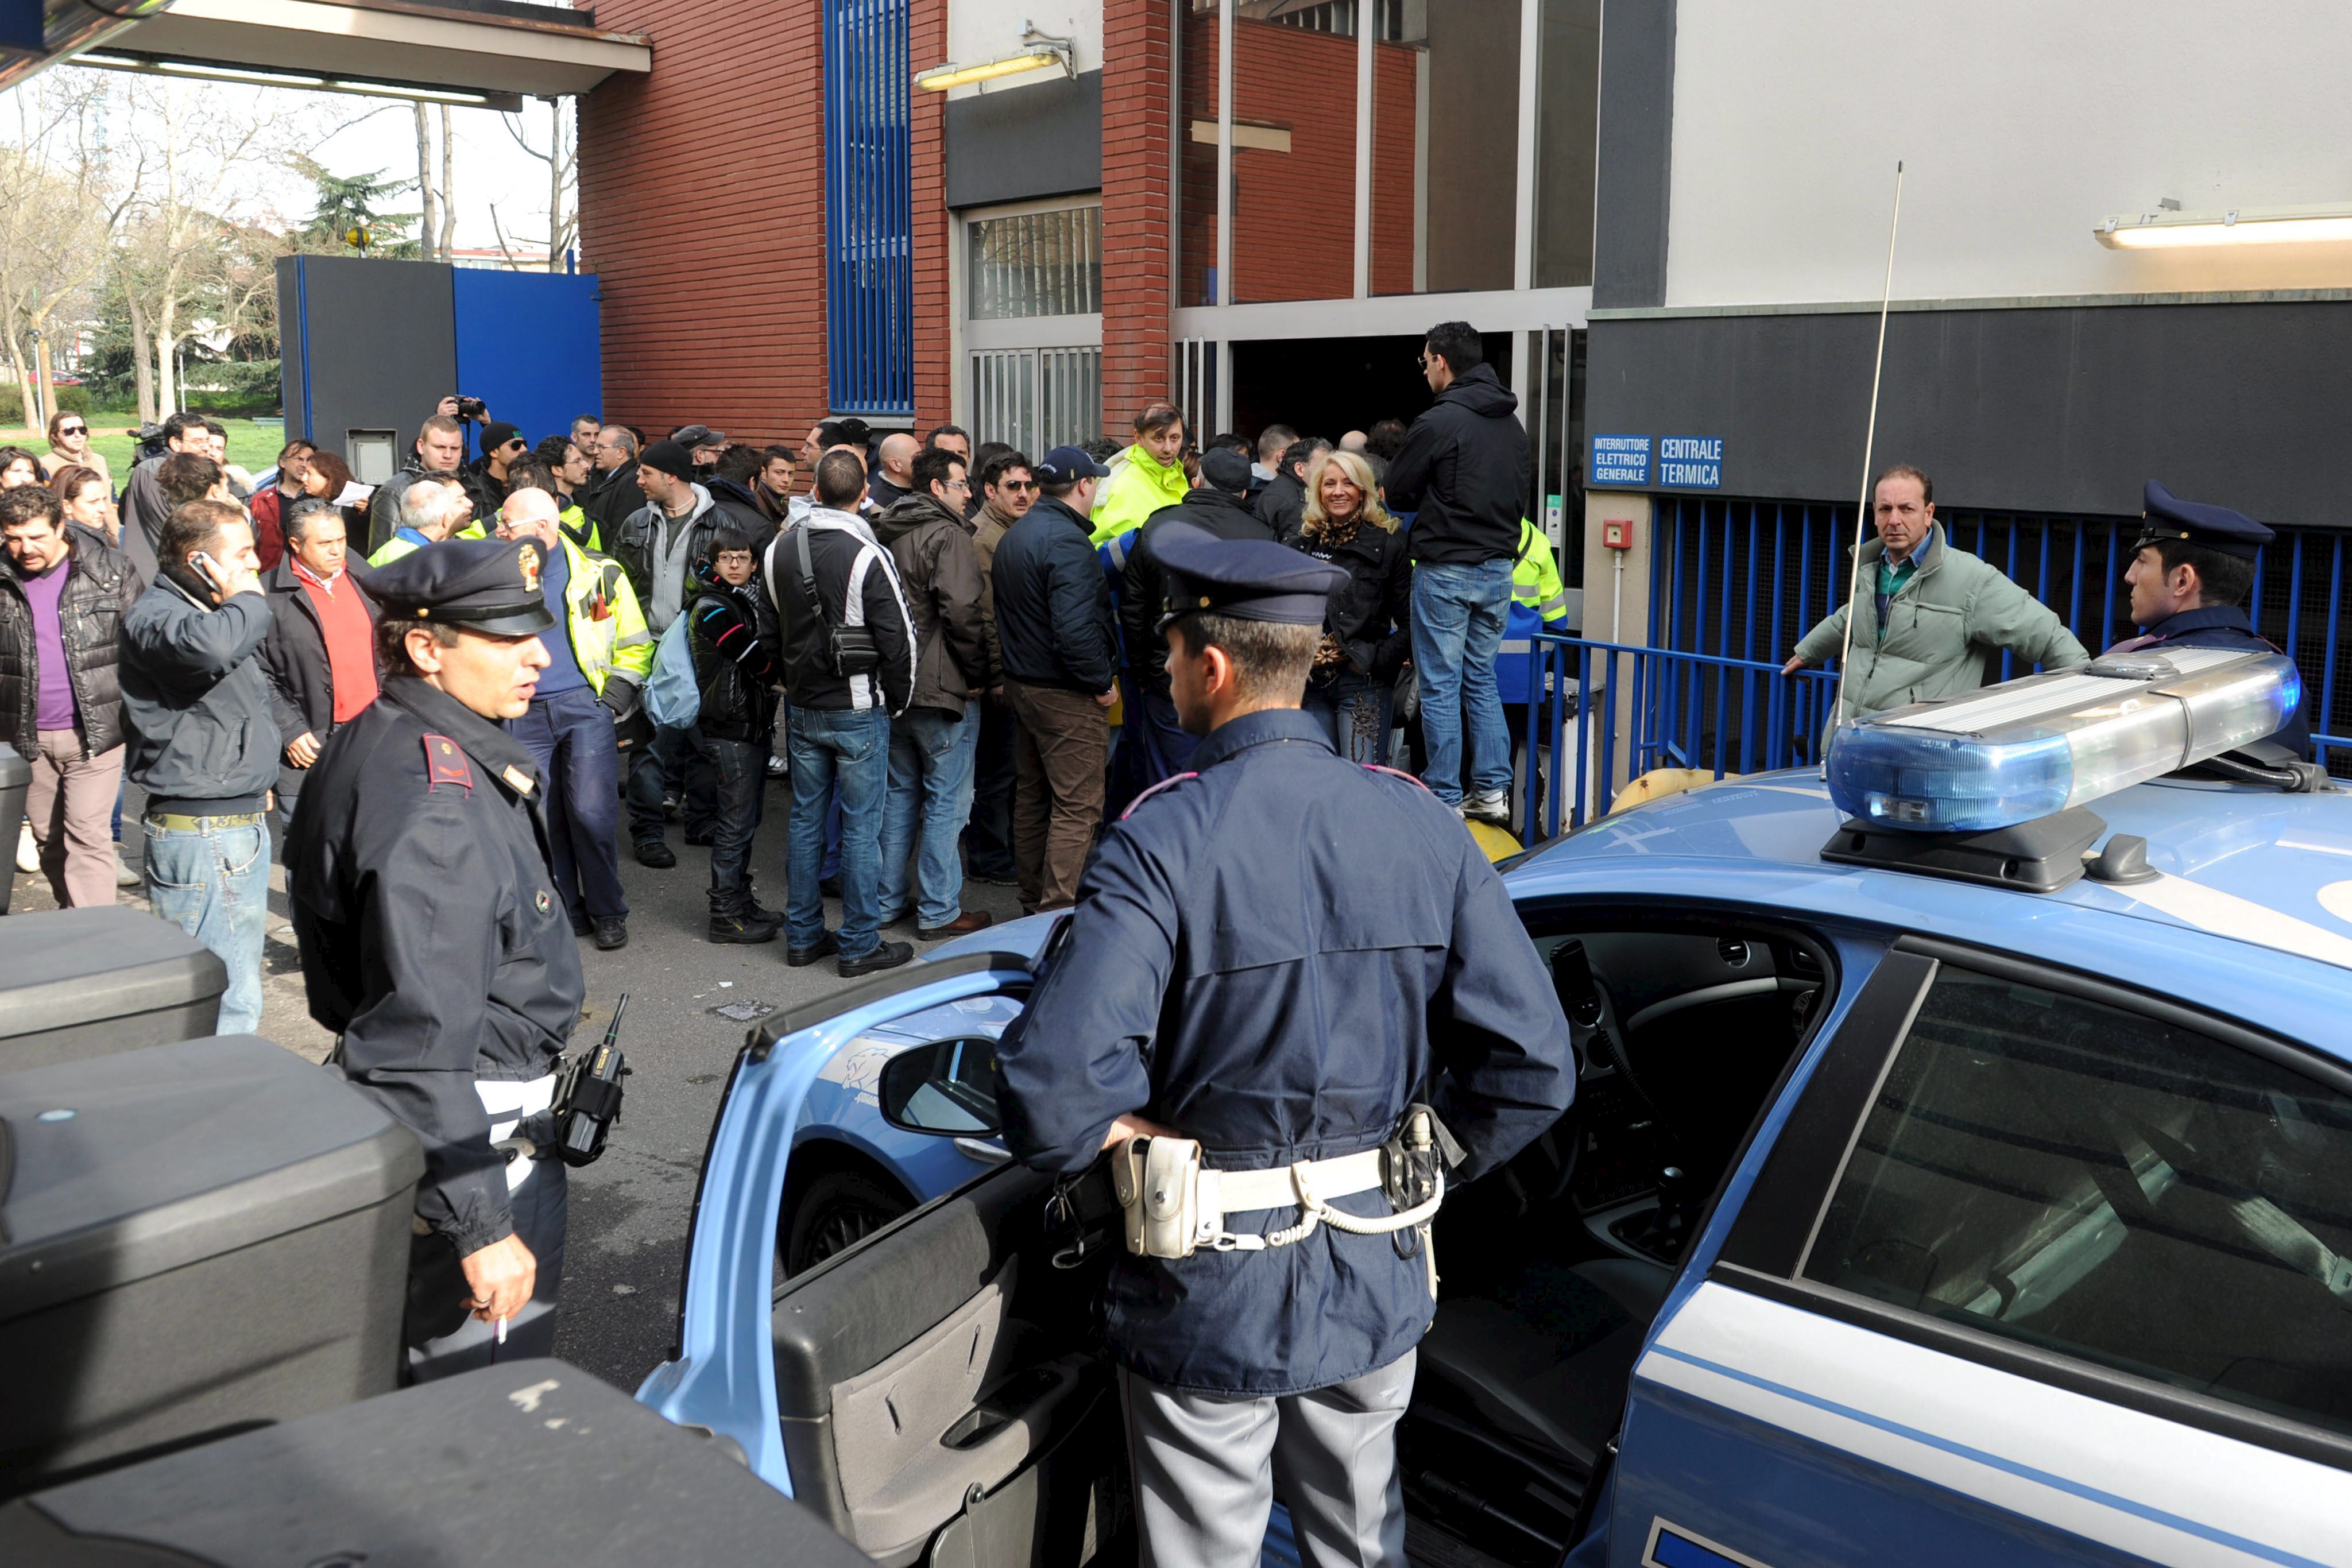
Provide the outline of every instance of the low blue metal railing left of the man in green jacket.
[[1534,637],[1534,658],[1543,696],[1526,708],[1526,755],[1543,766],[1524,776],[1529,842],[1583,827],[1651,769],[1722,778],[1816,762],[1837,701],[1828,670],[1780,675],[1755,658],[1552,635]]

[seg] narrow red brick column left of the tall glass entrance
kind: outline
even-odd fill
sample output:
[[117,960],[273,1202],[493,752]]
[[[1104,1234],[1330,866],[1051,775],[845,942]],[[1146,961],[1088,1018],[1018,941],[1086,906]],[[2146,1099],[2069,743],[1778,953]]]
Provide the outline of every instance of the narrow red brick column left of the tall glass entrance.
[[1103,0],[1103,433],[1174,386],[1169,0]]

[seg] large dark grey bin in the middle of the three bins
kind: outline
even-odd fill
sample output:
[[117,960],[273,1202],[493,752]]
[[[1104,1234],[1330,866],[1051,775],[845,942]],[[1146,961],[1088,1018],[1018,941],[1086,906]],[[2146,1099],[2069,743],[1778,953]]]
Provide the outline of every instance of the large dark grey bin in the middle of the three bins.
[[423,1152],[341,1077],[252,1034],[7,1072],[0,1143],[0,1495],[395,1387]]

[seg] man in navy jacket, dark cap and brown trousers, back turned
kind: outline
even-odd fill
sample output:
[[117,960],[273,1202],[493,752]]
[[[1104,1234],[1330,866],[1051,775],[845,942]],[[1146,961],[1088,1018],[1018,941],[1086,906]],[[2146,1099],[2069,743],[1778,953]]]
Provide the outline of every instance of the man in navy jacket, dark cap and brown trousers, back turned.
[[1103,820],[1103,759],[1117,701],[1110,583],[1087,543],[1094,487],[1110,475],[1077,447],[1033,468],[1044,494],[997,543],[990,585],[1014,738],[1014,867],[1021,907],[1068,910]]

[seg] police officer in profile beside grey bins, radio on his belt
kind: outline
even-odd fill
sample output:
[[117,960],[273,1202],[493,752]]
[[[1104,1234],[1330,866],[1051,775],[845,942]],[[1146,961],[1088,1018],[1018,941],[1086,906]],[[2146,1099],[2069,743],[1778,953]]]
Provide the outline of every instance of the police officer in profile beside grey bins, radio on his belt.
[[501,729],[548,665],[541,562],[539,541],[449,541],[369,574],[383,693],[327,741],[285,846],[310,1016],[426,1147],[412,1378],[555,1345],[564,1166],[532,1133],[583,985],[546,780]]

